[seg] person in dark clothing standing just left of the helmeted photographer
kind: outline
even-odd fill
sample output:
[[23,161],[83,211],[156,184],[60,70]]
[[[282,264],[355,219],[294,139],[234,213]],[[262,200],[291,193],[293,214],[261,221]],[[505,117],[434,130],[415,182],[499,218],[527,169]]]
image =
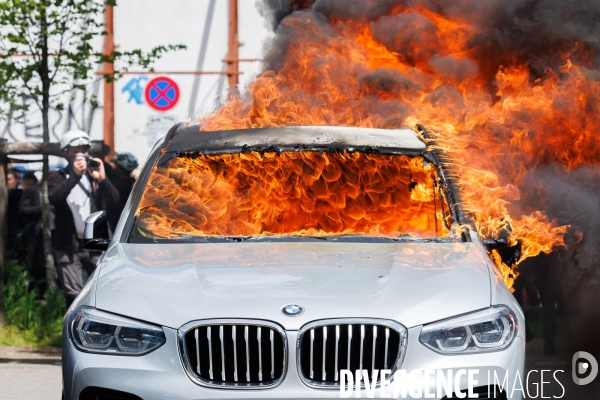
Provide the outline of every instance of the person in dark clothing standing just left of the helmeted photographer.
[[19,203],[19,217],[23,222],[23,243],[27,246],[31,276],[36,281],[39,293],[46,291],[46,262],[44,260],[44,242],[42,231],[42,188],[37,184],[33,173],[23,176],[23,186],[27,181],[36,182],[23,189]]

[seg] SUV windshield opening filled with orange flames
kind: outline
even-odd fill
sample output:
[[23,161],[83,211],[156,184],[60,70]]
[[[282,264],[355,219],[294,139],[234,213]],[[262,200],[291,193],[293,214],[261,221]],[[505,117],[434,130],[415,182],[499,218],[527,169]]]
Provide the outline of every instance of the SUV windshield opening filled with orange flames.
[[177,155],[154,167],[135,214],[151,239],[445,238],[437,171],[422,156],[364,152]]

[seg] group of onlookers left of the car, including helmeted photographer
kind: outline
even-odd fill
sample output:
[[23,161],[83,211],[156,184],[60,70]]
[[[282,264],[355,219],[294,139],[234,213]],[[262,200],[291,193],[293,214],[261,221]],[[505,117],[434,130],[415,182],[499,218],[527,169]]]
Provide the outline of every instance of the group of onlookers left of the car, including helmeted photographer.
[[[67,307],[83,289],[100,256],[83,250],[86,218],[99,210],[107,213],[114,230],[135,183],[138,161],[120,153],[106,162],[91,157],[89,135],[80,130],[66,132],[60,140],[67,166],[48,176],[51,205],[50,228],[59,287]],[[8,258],[26,260],[34,279],[33,290],[45,291],[46,268],[42,232],[42,191],[33,172],[7,170]],[[85,272],[85,273],[84,273]]]

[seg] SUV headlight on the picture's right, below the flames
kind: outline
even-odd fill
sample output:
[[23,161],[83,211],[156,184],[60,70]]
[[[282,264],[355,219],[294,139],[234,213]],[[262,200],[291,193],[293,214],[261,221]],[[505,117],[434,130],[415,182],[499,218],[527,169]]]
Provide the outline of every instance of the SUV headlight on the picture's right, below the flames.
[[441,354],[483,353],[507,348],[517,328],[512,310],[495,306],[426,325],[419,341]]

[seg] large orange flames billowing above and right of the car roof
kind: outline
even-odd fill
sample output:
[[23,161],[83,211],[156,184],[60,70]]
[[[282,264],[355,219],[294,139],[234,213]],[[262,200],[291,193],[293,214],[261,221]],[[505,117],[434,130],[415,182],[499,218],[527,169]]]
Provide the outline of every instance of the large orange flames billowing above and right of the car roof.
[[[527,49],[484,39],[491,28],[474,20],[494,18],[492,6],[477,15],[475,3],[463,14],[434,3],[388,7],[371,21],[315,10],[289,15],[268,54],[275,61],[244,96],[201,118],[201,129],[422,124],[446,155],[461,207],[480,234],[508,234],[511,245],[521,244],[521,260],[550,253],[564,245],[568,226],[550,220],[543,204],[522,206],[518,186],[541,164],[598,163],[594,55],[565,39],[546,52],[531,46],[532,66]],[[506,271],[497,253],[492,258]],[[514,271],[506,276],[511,286]]]

